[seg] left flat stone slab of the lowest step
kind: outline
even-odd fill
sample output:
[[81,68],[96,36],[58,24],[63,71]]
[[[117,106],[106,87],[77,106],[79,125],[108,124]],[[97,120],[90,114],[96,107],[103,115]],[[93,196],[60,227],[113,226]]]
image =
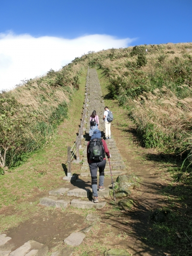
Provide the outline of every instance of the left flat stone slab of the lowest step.
[[40,204],[48,207],[66,208],[70,204],[69,199],[60,200],[56,196],[49,196],[40,199]]

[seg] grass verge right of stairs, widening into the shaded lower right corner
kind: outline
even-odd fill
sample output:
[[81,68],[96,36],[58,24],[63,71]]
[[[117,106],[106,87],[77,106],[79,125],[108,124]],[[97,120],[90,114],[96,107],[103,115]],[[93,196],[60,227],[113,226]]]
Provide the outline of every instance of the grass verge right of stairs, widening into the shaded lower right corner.
[[[190,256],[192,255],[192,168],[189,161],[180,159],[180,156],[173,154],[163,154],[158,151],[141,148],[137,134],[130,134],[131,120],[128,117],[127,109],[119,106],[115,99],[108,93],[108,80],[103,76],[102,70],[97,70],[105,105],[113,111],[113,127],[119,129],[119,135],[126,138],[123,145],[131,151],[131,158],[143,165],[153,165],[154,173],[163,180],[163,186],[156,191],[157,195],[163,196],[163,201],[171,214],[164,223],[151,223],[148,232],[142,234],[142,239],[149,246],[159,246],[172,248],[172,255]],[[128,138],[128,139],[127,139]],[[137,146],[137,148],[136,148]],[[140,181],[139,181],[140,182]],[[137,192],[139,194],[139,192]],[[114,207],[115,209],[116,207]],[[113,210],[108,210],[105,215],[110,216]],[[180,234],[181,238],[177,236]],[[187,238],[189,236],[189,239]],[[119,236],[120,237],[120,236]]]

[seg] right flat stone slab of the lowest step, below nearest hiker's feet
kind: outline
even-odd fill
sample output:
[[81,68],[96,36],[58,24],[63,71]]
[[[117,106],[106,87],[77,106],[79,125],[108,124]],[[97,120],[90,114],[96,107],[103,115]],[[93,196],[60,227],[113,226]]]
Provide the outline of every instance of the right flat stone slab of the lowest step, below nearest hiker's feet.
[[84,201],[81,199],[73,199],[71,201],[71,206],[77,207],[80,209],[91,209],[91,208],[96,208],[96,209],[101,209],[105,206],[106,202],[101,201],[100,203],[93,203],[92,201]]

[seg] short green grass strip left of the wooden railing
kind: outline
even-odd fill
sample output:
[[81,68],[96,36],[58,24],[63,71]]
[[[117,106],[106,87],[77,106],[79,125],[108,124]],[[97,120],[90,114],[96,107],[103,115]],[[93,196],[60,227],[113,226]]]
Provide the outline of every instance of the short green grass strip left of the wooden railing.
[[[67,161],[67,145],[73,145],[79,130],[86,74],[87,71],[84,70],[80,77],[79,90],[72,96],[69,117],[59,125],[54,140],[31,154],[23,165],[6,175],[0,175],[0,208],[7,209],[6,207],[11,205],[15,209],[7,217],[1,215],[2,230],[10,225],[17,226],[20,221],[30,218],[39,209],[35,206],[35,202],[39,200],[38,194],[46,193],[64,183],[61,180],[64,176],[62,163]],[[73,166],[72,171],[75,172],[78,168],[79,165]],[[32,202],[32,205],[29,202]]]

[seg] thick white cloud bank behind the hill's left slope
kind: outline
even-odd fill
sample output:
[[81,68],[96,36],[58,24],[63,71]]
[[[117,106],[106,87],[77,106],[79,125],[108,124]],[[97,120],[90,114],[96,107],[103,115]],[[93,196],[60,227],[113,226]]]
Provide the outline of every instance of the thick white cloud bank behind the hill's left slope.
[[59,70],[89,51],[127,47],[134,39],[110,35],[85,35],[75,39],[0,33],[0,90],[10,89],[23,79]]

